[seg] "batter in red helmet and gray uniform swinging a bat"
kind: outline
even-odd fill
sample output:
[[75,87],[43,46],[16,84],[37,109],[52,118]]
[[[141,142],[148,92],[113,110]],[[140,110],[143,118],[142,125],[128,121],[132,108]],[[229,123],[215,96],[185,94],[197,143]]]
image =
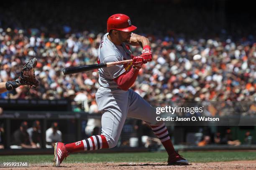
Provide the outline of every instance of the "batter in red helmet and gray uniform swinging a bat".
[[[175,152],[164,122],[156,121],[156,109],[129,89],[135,82],[141,66],[152,60],[148,38],[132,33],[135,29],[127,15],[115,14],[108,18],[108,33],[100,43],[98,63],[129,59],[133,62],[99,69],[100,88],[95,96],[102,112],[102,133],[75,143],[57,142],[54,147],[54,166],[59,167],[69,153],[115,147],[126,117],[140,119],[151,125],[169,155],[169,165],[188,165],[188,161]],[[141,56],[133,56],[129,45],[141,45]]]

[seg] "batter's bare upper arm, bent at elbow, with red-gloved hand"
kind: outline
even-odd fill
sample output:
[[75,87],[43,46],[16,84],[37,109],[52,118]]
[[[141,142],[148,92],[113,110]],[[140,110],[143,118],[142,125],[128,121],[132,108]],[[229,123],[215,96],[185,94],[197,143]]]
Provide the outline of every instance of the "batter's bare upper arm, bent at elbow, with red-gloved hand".
[[143,63],[152,61],[152,52],[150,47],[150,41],[147,37],[132,33],[129,45],[141,46],[143,48],[141,52],[141,57],[143,58]]

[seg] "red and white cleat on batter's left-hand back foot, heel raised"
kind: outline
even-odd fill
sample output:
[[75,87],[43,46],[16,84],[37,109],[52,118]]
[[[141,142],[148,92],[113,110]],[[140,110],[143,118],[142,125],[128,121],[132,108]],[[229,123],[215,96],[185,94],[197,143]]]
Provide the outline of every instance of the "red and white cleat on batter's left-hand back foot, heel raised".
[[69,155],[64,143],[56,142],[54,146],[54,167],[59,167],[64,158]]

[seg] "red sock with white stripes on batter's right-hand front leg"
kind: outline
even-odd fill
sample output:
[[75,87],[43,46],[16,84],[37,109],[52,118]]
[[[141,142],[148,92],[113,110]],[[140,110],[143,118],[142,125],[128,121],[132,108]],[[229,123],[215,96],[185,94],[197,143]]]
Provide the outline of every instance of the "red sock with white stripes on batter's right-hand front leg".
[[170,139],[170,136],[165,124],[163,123],[161,125],[151,126],[151,129],[154,131],[154,134],[157,136],[157,138],[161,140],[161,143],[164,145],[164,148],[168,153],[168,155],[173,155],[175,150],[173,148],[172,141]]

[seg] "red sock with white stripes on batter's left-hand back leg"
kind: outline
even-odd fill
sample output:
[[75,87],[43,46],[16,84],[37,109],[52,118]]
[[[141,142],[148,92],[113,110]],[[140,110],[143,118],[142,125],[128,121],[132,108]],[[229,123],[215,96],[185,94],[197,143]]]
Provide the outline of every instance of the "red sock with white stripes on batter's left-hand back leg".
[[108,142],[103,135],[91,136],[85,140],[80,140],[75,143],[68,143],[65,145],[65,147],[69,153],[81,150],[97,150],[102,148],[109,148]]

